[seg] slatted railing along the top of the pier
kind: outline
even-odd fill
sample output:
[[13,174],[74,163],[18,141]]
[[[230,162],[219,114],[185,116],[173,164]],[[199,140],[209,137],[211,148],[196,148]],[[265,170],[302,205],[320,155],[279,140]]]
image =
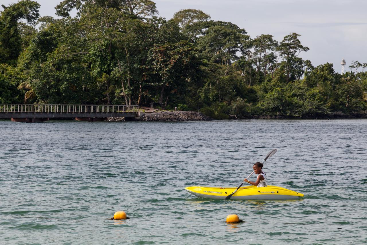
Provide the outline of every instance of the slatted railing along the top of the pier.
[[139,106],[95,104],[0,104],[0,113],[119,113],[137,112]]

